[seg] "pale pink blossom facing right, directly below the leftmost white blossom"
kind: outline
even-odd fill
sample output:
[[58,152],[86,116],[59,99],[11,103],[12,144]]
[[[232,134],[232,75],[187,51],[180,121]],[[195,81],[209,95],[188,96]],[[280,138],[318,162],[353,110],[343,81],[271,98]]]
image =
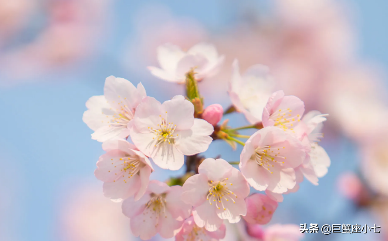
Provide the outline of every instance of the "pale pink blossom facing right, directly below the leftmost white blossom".
[[107,153],[97,162],[96,177],[104,182],[106,197],[121,201],[145,192],[153,171],[147,156],[126,140],[108,140],[102,144]]

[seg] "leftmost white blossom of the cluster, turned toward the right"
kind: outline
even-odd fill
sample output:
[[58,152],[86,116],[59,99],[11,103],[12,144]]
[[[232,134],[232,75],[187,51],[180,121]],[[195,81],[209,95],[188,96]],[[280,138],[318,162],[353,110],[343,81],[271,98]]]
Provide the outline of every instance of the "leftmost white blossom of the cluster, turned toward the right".
[[105,80],[104,95],[93,96],[86,102],[82,120],[95,132],[92,139],[104,142],[112,138],[126,138],[128,123],[134,118],[140,101],[146,97],[144,86],[137,88],[128,80],[109,76]]

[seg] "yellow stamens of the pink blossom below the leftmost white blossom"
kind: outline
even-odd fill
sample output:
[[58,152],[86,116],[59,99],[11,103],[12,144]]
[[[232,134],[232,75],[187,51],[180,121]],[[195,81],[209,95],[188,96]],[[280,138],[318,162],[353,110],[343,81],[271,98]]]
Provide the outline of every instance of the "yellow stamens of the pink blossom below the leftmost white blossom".
[[[115,175],[117,176],[116,180],[122,179],[125,183],[145,166],[145,164],[139,160],[138,156],[116,157],[112,158],[111,161],[114,168],[118,165],[122,166],[120,171],[116,172]],[[108,172],[111,172],[111,170]],[[114,180],[114,182],[116,182],[116,180]]]

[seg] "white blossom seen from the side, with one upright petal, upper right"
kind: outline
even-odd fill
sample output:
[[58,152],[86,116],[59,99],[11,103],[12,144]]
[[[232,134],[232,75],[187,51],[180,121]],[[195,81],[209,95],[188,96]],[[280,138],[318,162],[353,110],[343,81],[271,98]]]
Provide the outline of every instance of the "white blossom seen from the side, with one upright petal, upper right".
[[229,96],[237,111],[242,112],[252,124],[261,121],[263,108],[273,89],[274,82],[268,67],[253,65],[241,76],[238,61],[234,60]]

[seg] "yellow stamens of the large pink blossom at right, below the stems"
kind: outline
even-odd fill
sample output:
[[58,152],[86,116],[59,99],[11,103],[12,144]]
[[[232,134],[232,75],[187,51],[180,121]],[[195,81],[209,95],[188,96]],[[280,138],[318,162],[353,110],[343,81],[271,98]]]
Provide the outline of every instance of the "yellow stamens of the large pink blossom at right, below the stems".
[[286,157],[281,156],[281,149],[285,149],[285,147],[272,149],[271,146],[257,147],[251,156],[251,160],[256,161],[261,167],[271,172],[271,167],[273,167],[274,162],[283,164],[284,161],[279,161],[279,158],[286,159]]

